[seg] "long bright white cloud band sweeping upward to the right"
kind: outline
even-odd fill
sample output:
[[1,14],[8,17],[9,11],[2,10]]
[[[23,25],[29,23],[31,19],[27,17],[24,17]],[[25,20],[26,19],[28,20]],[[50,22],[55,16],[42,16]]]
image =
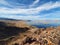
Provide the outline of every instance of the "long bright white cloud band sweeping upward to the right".
[[20,9],[20,8],[13,8],[13,9],[9,9],[9,8],[0,8],[0,13],[1,14],[25,14],[25,15],[36,15],[38,13],[40,13],[43,10],[50,10],[53,8],[57,8],[60,7],[60,2],[56,2],[56,3],[46,3],[43,4],[37,8],[29,8],[29,9]]

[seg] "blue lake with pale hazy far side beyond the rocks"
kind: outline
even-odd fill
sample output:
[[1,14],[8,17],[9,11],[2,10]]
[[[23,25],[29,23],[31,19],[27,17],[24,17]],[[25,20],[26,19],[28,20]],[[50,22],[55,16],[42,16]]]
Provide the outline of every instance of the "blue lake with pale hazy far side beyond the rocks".
[[38,28],[47,28],[47,27],[57,27],[60,26],[60,21],[59,20],[54,20],[54,21],[47,21],[47,20],[43,20],[43,21],[27,21],[27,24],[32,25],[32,26],[36,26]]

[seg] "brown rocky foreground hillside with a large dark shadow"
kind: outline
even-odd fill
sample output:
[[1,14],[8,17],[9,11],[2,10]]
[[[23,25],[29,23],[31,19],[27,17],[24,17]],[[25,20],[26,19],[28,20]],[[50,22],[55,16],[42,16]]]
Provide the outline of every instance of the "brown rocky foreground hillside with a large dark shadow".
[[60,45],[60,27],[39,29],[22,22],[4,24],[0,30],[7,30],[3,33],[7,37],[1,38],[4,35],[0,33],[0,45]]

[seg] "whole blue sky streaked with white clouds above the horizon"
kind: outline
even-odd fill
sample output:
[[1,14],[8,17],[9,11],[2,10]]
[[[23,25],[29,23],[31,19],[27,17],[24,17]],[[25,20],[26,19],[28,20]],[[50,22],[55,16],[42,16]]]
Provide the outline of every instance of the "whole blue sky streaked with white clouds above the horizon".
[[0,0],[0,18],[60,20],[60,0]]

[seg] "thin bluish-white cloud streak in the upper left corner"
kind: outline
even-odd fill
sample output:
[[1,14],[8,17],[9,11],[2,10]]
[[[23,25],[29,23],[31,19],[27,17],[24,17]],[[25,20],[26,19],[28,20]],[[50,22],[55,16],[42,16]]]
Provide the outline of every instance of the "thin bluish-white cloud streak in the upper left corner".
[[12,8],[26,8],[24,4],[20,4],[18,2],[9,2],[7,0],[0,0],[0,4],[5,5],[7,7],[12,7]]

